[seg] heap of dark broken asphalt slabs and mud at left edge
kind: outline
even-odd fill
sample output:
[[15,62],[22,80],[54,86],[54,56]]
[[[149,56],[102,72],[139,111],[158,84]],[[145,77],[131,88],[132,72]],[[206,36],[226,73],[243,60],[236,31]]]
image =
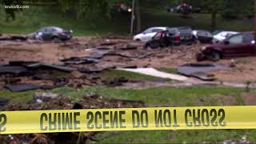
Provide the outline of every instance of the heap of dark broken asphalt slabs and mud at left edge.
[[0,89],[18,92],[25,90],[50,90],[59,86],[102,85],[100,78],[88,77],[76,68],[38,62],[10,62],[0,66]]

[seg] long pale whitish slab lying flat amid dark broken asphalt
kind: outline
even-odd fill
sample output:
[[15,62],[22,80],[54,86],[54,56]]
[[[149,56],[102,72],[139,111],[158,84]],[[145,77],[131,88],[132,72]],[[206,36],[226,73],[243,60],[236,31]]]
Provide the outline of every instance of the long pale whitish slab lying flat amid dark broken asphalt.
[[178,75],[178,74],[169,74],[162,71],[155,70],[154,68],[137,68],[137,69],[122,69],[118,68],[117,70],[125,70],[130,71],[138,74],[146,74],[158,78],[169,78],[177,81],[186,81],[188,78]]

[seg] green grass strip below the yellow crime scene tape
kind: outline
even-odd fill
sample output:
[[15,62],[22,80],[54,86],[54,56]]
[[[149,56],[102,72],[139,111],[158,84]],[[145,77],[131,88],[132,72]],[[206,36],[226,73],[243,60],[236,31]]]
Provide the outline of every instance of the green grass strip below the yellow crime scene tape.
[[254,142],[256,130],[151,130],[104,132],[98,143],[218,143],[250,135]]

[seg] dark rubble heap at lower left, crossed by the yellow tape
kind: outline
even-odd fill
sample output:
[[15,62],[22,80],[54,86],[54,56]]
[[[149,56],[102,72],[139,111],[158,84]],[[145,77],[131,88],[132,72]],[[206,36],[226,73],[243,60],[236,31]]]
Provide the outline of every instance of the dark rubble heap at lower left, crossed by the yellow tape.
[[[1,106],[4,110],[78,110],[100,108],[143,107],[144,102],[133,100],[120,100],[115,98],[102,98],[97,94],[87,94],[78,102],[72,102],[70,98],[64,98],[58,94],[36,93],[33,101],[26,105]],[[96,141],[94,135],[98,132],[81,133],[53,133],[53,134],[10,134],[2,135],[3,143],[85,143]]]

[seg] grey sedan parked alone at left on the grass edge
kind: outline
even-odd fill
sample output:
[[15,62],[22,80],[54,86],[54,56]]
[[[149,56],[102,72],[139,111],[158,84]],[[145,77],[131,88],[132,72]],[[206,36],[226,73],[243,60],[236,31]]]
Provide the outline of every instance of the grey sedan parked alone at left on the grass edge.
[[43,41],[66,41],[73,37],[72,30],[63,30],[62,28],[56,26],[46,26],[42,27],[38,31],[29,34],[29,38],[35,38]]

